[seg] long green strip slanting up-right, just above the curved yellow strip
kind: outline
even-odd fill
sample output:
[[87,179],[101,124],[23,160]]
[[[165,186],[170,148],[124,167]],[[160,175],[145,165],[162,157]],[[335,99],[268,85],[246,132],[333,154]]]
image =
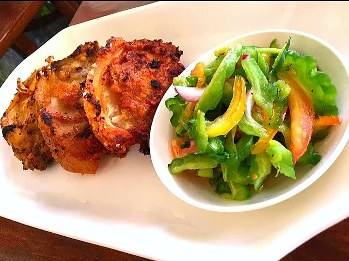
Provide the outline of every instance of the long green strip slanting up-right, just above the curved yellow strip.
[[241,44],[229,50],[224,56],[221,64],[214,73],[211,82],[205,88],[203,95],[196,104],[195,112],[201,110],[206,113],[207,110],[214,109],[222,99],[222,89],[226,79],[228,79],[235,70],[241,51]]

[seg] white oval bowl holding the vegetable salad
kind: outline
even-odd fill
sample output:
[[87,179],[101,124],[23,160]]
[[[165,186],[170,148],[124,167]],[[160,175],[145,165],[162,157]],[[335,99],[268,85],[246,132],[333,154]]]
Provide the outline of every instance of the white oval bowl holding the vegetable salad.
[[[293,30],[256,31],[232,38],[209,50],[190,64],[181,75],[188,76],[199,61],[206,65],[213,61],[214,51],[217,48],[233,47],[239,42],[243,45],[269,47],[274,38],[278,39],[279,43],[284,43],[288,36],[292,38],[290,49],[301,54],[314,56],[318,66],[330,76],[332,83],[337,88],[336,104],[341,124],[332,127],[328,137],[316,144],[316,149],[322,155],[322,160],[314,167],[296,166],[296,180],[279,175],[270,182],[269,186],[265,186],[263,191],[254,194],[247,201],[223,199],[215,193],[207,179],[193,178],[184,174],[172,175],[169,173],[167,165],[172,161],[170,142],[174,138],[174,127],[170,123],[172,113],[165,106],[165,100],[176,94],[174,87],[171,86],[161,100],[153,120],[150,132],[150,154],[160,180],[175,196],[192,206],[212,211],[242,212],[262,209],[286,200],[310,186],[326,172],[339,156],[349,138],[349,106],[348,103],[346,104],[346,100],[349,98],[349,68],[345,58],[325,41],[313,35]],[[326,188],[323,189],[326,190]]]

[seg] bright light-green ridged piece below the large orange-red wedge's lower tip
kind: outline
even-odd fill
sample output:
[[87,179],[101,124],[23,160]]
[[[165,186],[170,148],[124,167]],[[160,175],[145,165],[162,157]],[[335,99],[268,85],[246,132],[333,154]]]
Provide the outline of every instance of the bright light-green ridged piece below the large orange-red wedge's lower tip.
[[270,162],[280,173],[296,179],[293,155],[280,142],[270,140],[266,152],[270,155]]

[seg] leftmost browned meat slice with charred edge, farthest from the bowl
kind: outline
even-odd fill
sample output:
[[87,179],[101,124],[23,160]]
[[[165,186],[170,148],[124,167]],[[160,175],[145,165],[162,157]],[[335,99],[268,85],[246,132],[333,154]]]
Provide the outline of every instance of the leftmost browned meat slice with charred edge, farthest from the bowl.
[[52,154],[38,127],[35,89],[43,77],[35,70],[23,83],[18,78],[14,99],[1,117],[2,136],[22,161],[23,170],[46,170]]

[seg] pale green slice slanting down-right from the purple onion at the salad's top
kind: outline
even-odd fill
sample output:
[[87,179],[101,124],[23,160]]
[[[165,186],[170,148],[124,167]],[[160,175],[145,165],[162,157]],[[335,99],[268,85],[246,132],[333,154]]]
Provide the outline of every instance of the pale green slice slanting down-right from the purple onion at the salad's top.
[[244,59],[241,61],[241,65],[246,72],[249,82],[252,84],[255,103],[271,118],[273,102],[277,99],[277,87],[268,82],[267,77],[254,59]]

